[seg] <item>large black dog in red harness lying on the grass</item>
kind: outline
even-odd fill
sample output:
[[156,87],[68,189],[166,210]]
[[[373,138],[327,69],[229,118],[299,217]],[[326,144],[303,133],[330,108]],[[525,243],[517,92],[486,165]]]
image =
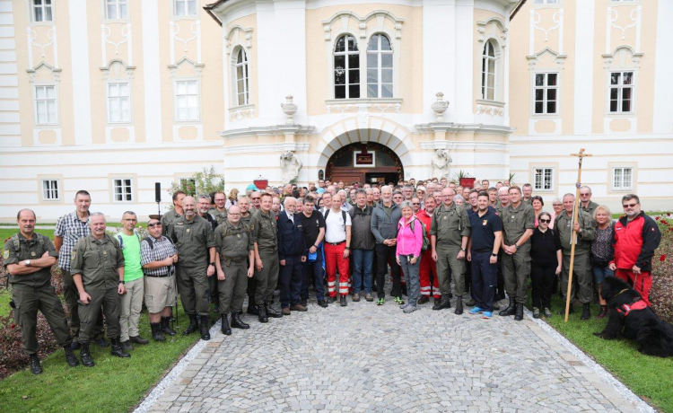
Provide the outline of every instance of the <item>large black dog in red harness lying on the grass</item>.
[[605,330],[594,335],[607,340],[623,336],[635,340],[642,354],[673,356],[673,326],[643,306],[641,294],[617,277],[606,277],[601,293],[609,320]]

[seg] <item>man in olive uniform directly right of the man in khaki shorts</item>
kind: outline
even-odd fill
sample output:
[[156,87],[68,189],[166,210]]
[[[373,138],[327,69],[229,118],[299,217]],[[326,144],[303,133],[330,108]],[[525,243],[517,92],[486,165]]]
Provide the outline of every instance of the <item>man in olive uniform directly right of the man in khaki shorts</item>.
[[215,273],[213,227],[197,215],[196,199],[185,197],[182,208],[185,215],[170,225],[167,235],[178,250],[176,280],[182,308],[189,316],[189,325],[182,334],[196,331],[200,319],[201,338],[209,340],[208,277],[213,277]]

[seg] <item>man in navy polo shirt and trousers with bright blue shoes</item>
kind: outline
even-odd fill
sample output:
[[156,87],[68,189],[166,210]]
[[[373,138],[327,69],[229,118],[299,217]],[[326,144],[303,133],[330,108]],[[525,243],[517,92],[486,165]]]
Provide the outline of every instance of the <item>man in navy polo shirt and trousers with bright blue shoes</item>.
[[495,286],[498,283],[498,250],[503,239],[503,221],[489,208],[488,193],[479,192],[476,213],[469,215],[472,237],[469,240],[468,260],[472,262],[472,296],[475,306],[470,314],[493,315]]

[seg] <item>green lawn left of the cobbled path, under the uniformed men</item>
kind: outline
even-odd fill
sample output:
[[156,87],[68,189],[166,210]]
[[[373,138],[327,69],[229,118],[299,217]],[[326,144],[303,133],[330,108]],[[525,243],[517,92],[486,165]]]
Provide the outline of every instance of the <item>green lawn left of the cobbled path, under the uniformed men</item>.
[[[179,308],[179,334],[163,343],[151,339],[147,314],[140,318],[140,334],[150,339],[145,346],[134,345],[130,358],[110,356],[109,347],[92,345],[96,363],[69,367],[62,350],[42,361],[44,373],[28,370],[13,373],[0,382],[0,411],[7,412],[119,412],[129,411],[143,399],[181,355],[199,339],[180,334],[188,317]],[[79,357],[79,351],[75,354]]]

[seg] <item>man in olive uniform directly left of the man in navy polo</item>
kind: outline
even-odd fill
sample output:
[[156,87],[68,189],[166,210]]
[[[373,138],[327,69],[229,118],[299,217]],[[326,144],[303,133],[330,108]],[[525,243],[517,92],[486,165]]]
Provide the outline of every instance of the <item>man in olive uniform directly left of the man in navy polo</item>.
[[440,282],[441,302],[433,310],[450,308],[451,278],[453,275],[456,294],[456,314],[463,313],[465,294],[465,254],[470,236],[468,212],[453,203],[453,189],[441,189],[444,202],[434,211],[430,226],[430,245],[433,259],[437,261],[437,277]]

